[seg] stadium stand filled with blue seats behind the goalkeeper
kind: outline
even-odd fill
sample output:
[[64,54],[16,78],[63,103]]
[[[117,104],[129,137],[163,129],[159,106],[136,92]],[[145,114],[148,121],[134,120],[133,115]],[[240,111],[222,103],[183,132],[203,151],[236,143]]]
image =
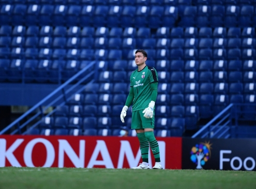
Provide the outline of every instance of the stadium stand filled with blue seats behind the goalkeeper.
[[182,136],[230,103],[254,104],[256,5],[242,2],[5,1],[0,82],[61,84],[98,61],[95,82],[27,134],[109,136],[143,48],[158,71],[157,136]]

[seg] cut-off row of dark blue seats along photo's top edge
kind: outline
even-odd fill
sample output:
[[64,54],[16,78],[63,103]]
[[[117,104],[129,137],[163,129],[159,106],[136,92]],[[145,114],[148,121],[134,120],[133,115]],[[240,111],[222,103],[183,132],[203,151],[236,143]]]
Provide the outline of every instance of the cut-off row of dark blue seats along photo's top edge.
[[55,5],[252,5],[255,0],[2,0],[1,4]]

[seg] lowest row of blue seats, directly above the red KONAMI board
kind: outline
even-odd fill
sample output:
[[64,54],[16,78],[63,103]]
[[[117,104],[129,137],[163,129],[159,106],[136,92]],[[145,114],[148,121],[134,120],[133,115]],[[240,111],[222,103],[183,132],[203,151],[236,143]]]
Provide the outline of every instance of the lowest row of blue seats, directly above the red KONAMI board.
[[[85,130],[82,129],[28,129],[26,135],[43,135],[43,136],[51,136],[51,135],[69,135],[69,136],[120,136],[121,129],[95,129],[88,128]],[[177,128],[172,129],[157,129],[155,130],[156,137],[181,137],[182,131]],[[136,137],[136,131],[130,129],[128,133],[129,137]]]

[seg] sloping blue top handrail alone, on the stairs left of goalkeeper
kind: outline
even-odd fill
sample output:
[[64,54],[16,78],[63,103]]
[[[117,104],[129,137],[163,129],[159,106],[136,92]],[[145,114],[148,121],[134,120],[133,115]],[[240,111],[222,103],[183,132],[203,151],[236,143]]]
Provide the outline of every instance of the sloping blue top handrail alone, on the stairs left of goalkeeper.
[[[65,83],[63,83],[61,86],[59,86],[57,89],[55,89],[53,92],[51,92],[48,96],[46,96],[44,99],[42,99],[40,102],[38,102],[36,105],[34,105],[33,107],[31,107],[28,111],[26,111],[22,116],[20,116],[17,120],[13,121],[11,124],[9,124],[7,127],[5,127],[3,130],[0,131],[0,135],[3,135],[7,130],[9,130],[10,128],[12,128],[14,125],[18,124],[23,118],[25,118],[26,116],[28,116],[31,112],[33,112],[36,108],[38,108],[39,106],[41,106],[44,102],[46,102],[47,100],[49,100],[50,98],[52,98],[54,96],[54,94],[56,94],[57,92],[59,92],[61,89],[63,89],[64,87],[66,87],[68,84],[70,84],[74,79],[76,79],[77,77],[79,77],[82,73],[84,73],[88,68],[90,68],[92,65],[95,64],[95,61],[92,61],[90,64],[88,64],[86,67],[84,67],[82,70],[80,70],[79,72],[77,72],[75,75],[73,75],[68,81],[66,81]],[[74,86],[73,86],[74,88]],[[71,89],[72,90],[72,89]],[[63,95],[63,94],[62,94]]]

